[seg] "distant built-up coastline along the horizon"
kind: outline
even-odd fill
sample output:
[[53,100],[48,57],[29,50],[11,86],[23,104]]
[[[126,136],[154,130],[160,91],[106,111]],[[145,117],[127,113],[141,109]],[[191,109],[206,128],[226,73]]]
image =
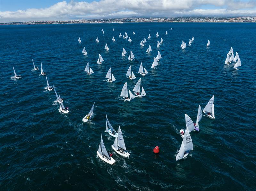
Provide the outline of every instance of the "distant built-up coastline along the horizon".
[[[177,17],[177,18],[118,18],[118,19],[78,19],[66,21],[24,21],[7,22],[0,25],[42,25],[42,24],[80,24],[80,23],[141,23],[141,22],[198,22],[198,23],[255,23],[256,17]],[[122,25],[122,24],[120,24]]]

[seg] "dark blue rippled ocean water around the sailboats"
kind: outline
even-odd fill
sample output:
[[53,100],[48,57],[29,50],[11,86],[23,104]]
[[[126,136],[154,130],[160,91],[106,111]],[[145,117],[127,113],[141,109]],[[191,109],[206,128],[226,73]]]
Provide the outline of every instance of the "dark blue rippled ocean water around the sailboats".
[[[118,37],[125,31],[132,42]],[[0,26],[0,190],[252,190],[255,34],[255,23]],[[144,37],[148,41],[141,48]],[[160,37],[164,42],[157,48]],[[149,45],[152,52],[146,53]],[[239,54],[240,70],[224,64],[230,46]],[[134,61],[127,59],[129,53],[121,56],[123,47],[132,50]],[[162,59],[153,70],[157,51]],[[101,65],[98,54],[105,61]],[[60,113],[45,77],[32,70],[32,59],[39,69],[42,62],[69,114]],[[87,62],[91,76],[84,72]],[[145,77],[138,74],[141,62],[149,72]],[[22,79],[13,79],[12,65]],[[130,65],[135,80],[125,77]],[[116,78],[112,84],[104,81],[110,67]],[[124,83],[132,91],[140,78],[147,96],[123,101]],[[195,122],[198,105],[203,109],[212,95],[216,119],[202,117],[200,131],[190,133],[194,151],[176,161],[185,114]],[[83,123],[94,101],[94,118]],[[112,150],[105,111],[115,129],[120,125],[129,158]],[[100,134],[115,165],[97,157]],[[153,153],[156,145],[159,155]]]

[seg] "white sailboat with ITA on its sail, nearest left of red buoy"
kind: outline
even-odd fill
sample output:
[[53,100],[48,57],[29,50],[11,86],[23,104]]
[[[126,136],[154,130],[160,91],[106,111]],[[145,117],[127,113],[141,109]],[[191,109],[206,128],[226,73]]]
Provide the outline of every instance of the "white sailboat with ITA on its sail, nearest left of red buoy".
[[127,158],[130,156],[130,153],[126,151],[126,147],[124,144],[124,137],[122,134],[122,131],[120,129],[120,126],[118,126],[118,136],[116,137],[114,144],[111,145],[112,149],[119,155]]

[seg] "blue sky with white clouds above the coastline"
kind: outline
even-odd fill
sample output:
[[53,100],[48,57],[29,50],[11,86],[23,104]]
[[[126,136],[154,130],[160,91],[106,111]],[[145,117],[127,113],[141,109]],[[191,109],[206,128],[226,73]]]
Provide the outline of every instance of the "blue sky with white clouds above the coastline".
[[256,0],[0,0],[0,23],[187,16],[256,17]]

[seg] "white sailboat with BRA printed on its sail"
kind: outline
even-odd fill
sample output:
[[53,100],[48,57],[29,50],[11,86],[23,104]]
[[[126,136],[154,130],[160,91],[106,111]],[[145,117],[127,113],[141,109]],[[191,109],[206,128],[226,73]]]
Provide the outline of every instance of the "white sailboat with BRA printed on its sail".
[[180,145],[179,153],[176,156],[176,161],[186,158],[188,156],[189,152],[192,150],[193,150],[193,142],[190,137],[188,127],[186,125],[185,135],[184,135],[183,141]]

